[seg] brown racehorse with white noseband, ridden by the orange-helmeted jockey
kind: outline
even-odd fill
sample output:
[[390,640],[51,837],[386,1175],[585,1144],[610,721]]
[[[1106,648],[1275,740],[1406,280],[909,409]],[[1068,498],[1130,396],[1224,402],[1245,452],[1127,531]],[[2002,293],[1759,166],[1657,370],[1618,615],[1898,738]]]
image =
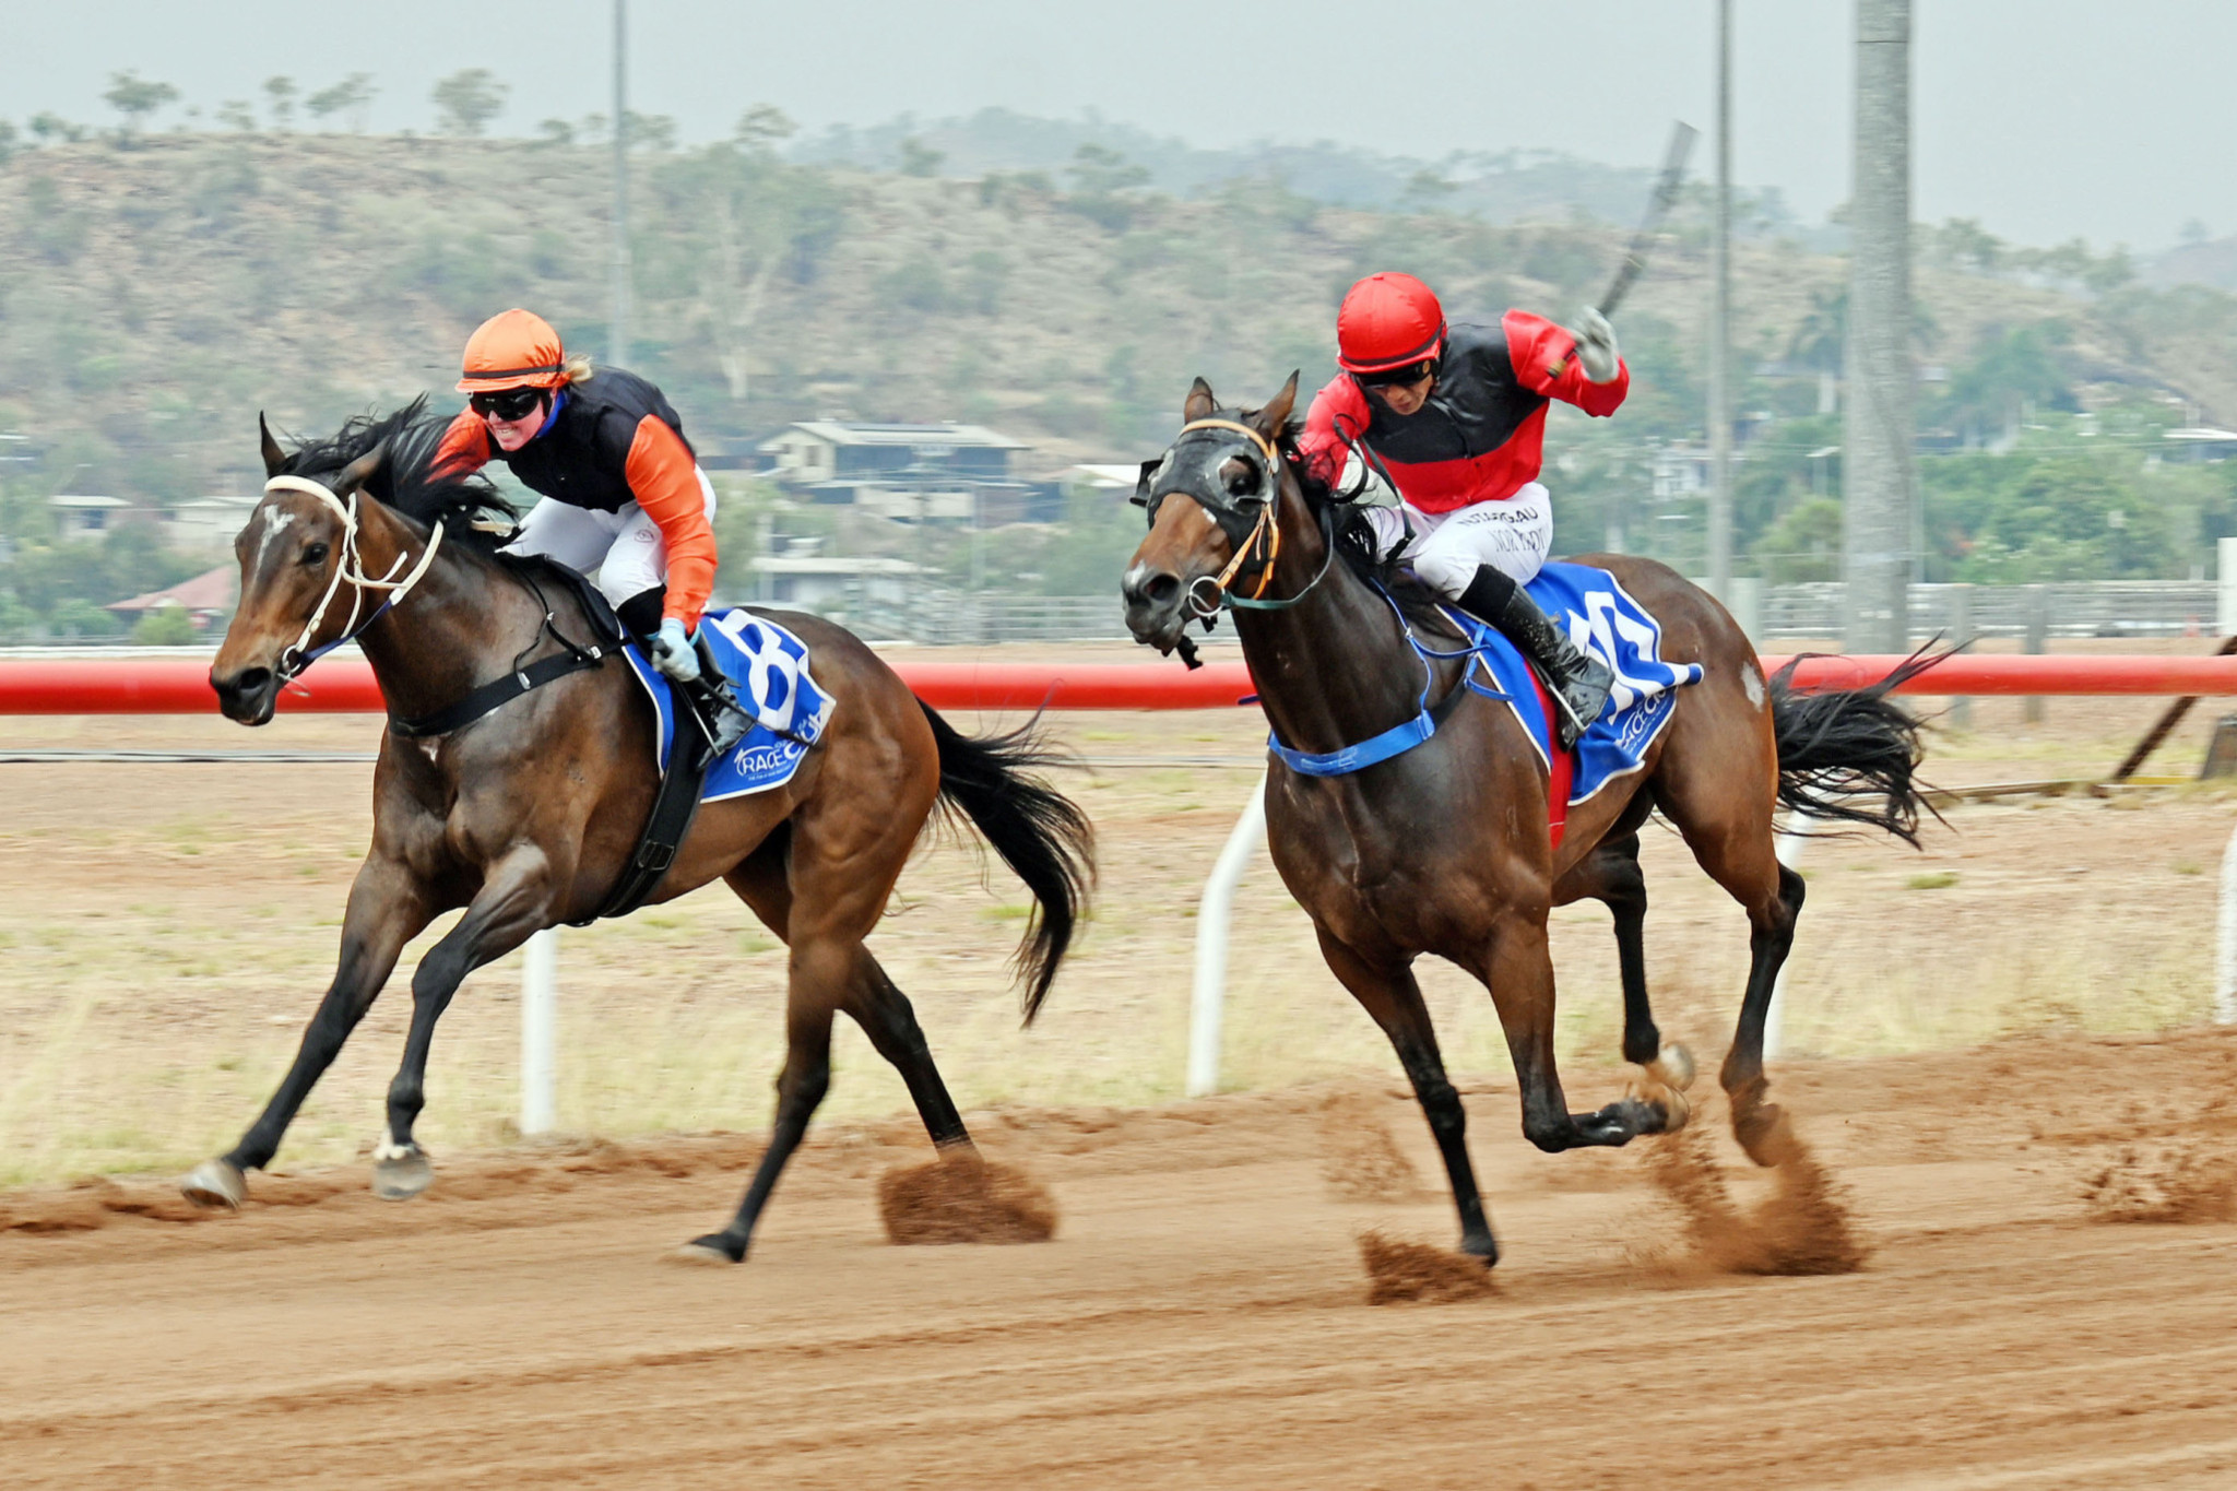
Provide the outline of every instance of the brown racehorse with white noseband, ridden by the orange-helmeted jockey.
[[[262,422],[259,422],[262,425]],[[501,561],[494,494],[427,476],[441,420],[412,405],[282,452],[262,434],[264,501],[235,539],[242,604],[210,668],[219,709],[273,718],[306,657],[356,637],[391,729],[374,767],[374,843],[349,892],[333,984],[295,1064],[242,1142],[186,1178],[188,1198],[237,1207],[311,1084],[371,1008],[403,946],[438,914],[465,917],[412,977],[412,1028],[387,1095],[374,1189],[425,1189],[412,1138],[436,1019],[459,981],[530,934],[597,914],[653,805],[653,711],[611,646],[450,731],[400,733],[492,680],[561,668],[602,642],[570,574]],[[447,541],[445,541],[447,539]],[[1049,993],[1094,874],[1087,818],[1029,776],[1051,758],[1033,729],[966,738],[857,637],[767,612],[812,650],[830,720],[794,776],[700,807],[653,901],[720,876],[790,948],[776,1124],[745,1200],[685,1256],[745,1259],[754,1223],[830,1084],[832,1015],[846,1010],[902,1073],[942,1151],[971,1145],[908,999],[863,937],[877,925],[935,809],[960,809],[1036,899],[1018,948],[1025,1017]],[[678,726],[682,729],[682,724]]]

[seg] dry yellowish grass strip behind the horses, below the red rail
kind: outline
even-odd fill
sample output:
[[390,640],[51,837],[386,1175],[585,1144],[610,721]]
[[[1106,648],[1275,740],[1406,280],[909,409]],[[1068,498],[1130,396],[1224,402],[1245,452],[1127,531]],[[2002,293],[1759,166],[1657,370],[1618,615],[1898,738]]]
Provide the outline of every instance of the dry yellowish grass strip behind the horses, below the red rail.
[[[1964,758],[1935,776],[2080,773],[2156,709],[2058,702],[2020,735],[1982,702]],[[2123,713],[2125,711],[2125,713]],[[2063,718],[2065,715],[2065,718]],[[962,724],[971,724],[964,720]],[[1253,758],[1255,715],[1074,715],[1094,758],[1174,749]],[[2203,729],[2203,724],[2199,726]],[[1989,744],[2004,731],[2027,762]],[[2065,733],[2054,733],[2065,731]],[[11,740],[89,744],[85,722],[7,722]],[[101,729],[116,744],[365,749],[360,720],[282,720],[248,740],[217,720]],[[1186,742],[1186,744],[1177,744]],[[2063,756],[2051,751],[2063,749]],[[2190,731],[2177,742],[2192,751]],[[367,834],[367,767],[0,767],[0,1185],[183,1167],[255,1115],[331,977],[342,896]],[[1192,908],[1253,771],[1067,773],[1103,836],[1103,894],[1040,1024],[1020,1031],[1007,986],[1020,921],[1007,872],[969,847],[928,847],[875,948],[908,990],[957,1102],[1141,1104],[1179,1095]],[[2219,794],[2132,803],[1969,805],[1928,852],[1814,843],[1810,905],[1787,981],[1796,1055],[1964,1046],[2018,1031],[2150,1031],[2210,1006]],[[1649,966],[1662,1028],[1714,1062],[1747,972],[1740,912],[1673,834],[1646,834]],[[1955,876],[1922,894],[1915,876]],[[1237,905],[1224,1075],[1237,1089],[1394,1073],[1382,1037],[1327,975],[1311,925],[1259,861]],[[432,941],[423,937],[409,961]],[[1559,1051],[1579,1107],[1620,1086],[1620,997],[1606,912],[1555,914]],[[1506,1073],[1490,999],[1420,966],[1454,1073]],[[519,961],[470,979],[443,1019],[423,1138],[443,1153],[501,1145],[519,1091]],[[358,1031],[282,1151],[356,1156],[376,1133],[403,1048],[405,977]],[[561,932],[561,1127],[629,1136],[758,1129],[783,1057],[783,948],[727,892],[620,925]],[[841,1022],[830,1118],[908,1109],[906,1091]],[[1492,1142],[1492,1140],[1485,1140]]]

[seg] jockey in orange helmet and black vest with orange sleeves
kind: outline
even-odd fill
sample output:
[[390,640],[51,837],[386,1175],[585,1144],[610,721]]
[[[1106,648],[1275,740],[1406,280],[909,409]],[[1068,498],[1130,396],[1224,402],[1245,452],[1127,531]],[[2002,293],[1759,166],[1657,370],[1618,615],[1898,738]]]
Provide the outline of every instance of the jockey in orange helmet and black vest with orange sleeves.
[[[532,311],[485,320],[465,342],[468,407],[443,431],[432,474],[456,481],[503,460],[539,501],[506,548],[593,577],[653,666],[696,686],[716,749],[738,706],[702,677],[693,648],[714,590],[714,485],[682,420],[651,382],[568,358]],[[709,664],[711,668],[711,664]]]

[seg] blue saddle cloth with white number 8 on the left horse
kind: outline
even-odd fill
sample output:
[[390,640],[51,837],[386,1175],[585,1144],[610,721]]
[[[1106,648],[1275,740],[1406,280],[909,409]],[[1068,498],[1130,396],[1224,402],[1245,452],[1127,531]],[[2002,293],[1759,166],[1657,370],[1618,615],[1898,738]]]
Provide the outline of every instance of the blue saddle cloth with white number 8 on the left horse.
[[[700,803],[743,798],[749,791],[783,787],[799,771],[808,747],[823,738],[834,700],[808,675],[808,644],[767,617],[752,610],[711,610],[700,617],[707,650],[723,664],[738,702],[754,711],[756,724],[729,756],[707,767]],[[660,713],[660,751],[655,765],[669,769],[669,747],[676,742],[676,693],[667,675],[629,644],[629,666]],[[685,706],[689,709],[689,706]]]

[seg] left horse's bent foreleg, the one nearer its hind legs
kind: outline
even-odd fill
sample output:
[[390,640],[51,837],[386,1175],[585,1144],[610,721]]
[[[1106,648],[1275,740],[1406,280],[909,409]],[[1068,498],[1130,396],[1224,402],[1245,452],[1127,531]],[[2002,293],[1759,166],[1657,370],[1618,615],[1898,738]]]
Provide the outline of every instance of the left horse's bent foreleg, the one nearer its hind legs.
[[550,863],[528,845],[497,865],[481,890],[443,939],[427,950],[412,972],[412,1031],[405,1035],[405,1060],[389,1082],[389,1127],[374,1147],[374,1194],[385,1200],[409,1200],[434,1185],[434,1167],[412,1138],[421,1109],[427,1104],[427,1053],[434,1046],[434,1024],[450,1008],[465,975],[490,963],[535,932],[553,923]]

